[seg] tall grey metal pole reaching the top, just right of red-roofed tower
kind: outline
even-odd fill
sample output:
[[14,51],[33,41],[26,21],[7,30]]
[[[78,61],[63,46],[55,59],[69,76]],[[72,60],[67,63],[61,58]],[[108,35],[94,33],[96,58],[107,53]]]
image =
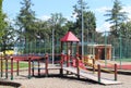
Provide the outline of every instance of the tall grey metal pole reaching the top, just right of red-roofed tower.
[[83,23],[83,0],[81,0],[81,11],[82,11],[82,55],[84,55],[84,23]]

